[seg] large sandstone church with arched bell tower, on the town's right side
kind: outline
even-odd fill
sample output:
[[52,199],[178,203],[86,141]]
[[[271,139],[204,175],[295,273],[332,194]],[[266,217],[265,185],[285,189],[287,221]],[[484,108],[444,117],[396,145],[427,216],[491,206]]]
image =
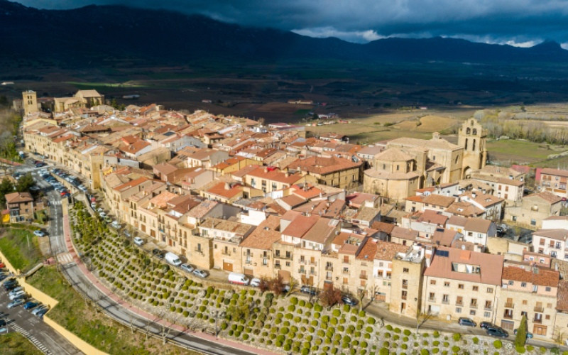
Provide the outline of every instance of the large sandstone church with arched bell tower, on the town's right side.
[[373,157],[364,171],[364,192],[392,200],[415,195],[417,189],[457,182],[484,168],[487,132],[476,119],[467,119],[458,132],[458,143],[449,143],[435,132],[432,139],[396,138]]

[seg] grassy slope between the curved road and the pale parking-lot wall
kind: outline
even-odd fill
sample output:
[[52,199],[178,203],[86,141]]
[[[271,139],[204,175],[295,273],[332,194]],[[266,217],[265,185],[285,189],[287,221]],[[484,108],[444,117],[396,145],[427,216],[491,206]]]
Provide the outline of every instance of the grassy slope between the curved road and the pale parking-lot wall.
[[87,305],[54,266],[40,268],[28,278],[28,283],[59,301],[48,313],[52,320],[108,354],[197,354],[171,344],[163,345],[152,337],[146,339],[140,333],[131,333],[129,328]]

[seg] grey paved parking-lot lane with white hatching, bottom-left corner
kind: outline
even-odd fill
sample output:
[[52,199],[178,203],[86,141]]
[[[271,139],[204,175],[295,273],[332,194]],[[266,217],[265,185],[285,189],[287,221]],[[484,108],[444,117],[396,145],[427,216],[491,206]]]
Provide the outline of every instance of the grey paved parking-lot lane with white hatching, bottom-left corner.
[[[75,355],[82,354],[73,344],[67,342],[58,332],[45,324],[38,317],[31,314],[31,310],[24,310],[23,305],[8,309],[10,302],[4,289],[0,290],[0,312],[2,317],[9,323],[9,328],[20,332],[30,342],[43,351],[44,354]],[[7,314],[7,315],[6,315]]]

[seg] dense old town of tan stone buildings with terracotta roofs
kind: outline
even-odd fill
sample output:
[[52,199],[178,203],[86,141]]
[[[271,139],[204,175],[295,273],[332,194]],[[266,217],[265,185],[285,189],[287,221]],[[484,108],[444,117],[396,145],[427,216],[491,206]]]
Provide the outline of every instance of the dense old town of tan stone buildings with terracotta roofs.
[[535,339],[568,339],[568,171],[487,165],[476,119],[457,143],[361,146],[159,104],[119,110],[96,90],[44,102],[26,91],[21,103],[26,153],[82,176],[104,197],[89,208],[195,268],[510,334],[526,317]]

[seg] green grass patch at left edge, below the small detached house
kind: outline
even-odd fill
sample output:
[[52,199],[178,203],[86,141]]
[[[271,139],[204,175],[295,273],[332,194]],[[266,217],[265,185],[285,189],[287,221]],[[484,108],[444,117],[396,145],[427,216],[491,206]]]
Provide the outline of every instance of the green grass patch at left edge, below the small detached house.
[[24,229],[4,231],[0,236],[0,250],[14,268],[23,272],[43,261],[38,248],[38,237]]

